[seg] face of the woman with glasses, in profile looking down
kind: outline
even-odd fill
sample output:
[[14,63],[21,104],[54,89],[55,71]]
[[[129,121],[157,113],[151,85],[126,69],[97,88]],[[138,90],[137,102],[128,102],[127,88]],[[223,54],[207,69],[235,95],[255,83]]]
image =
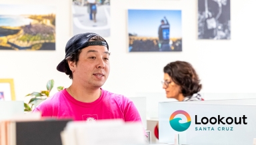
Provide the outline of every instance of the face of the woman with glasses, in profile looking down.
[[177,99],[179,94],[181,94],[181,86],[175,84],[171,79],[171,76],[167,73],[164,74],[163,80],[165,81],[165,83],[163,83],[163,88],[165,89],[166,97]]

